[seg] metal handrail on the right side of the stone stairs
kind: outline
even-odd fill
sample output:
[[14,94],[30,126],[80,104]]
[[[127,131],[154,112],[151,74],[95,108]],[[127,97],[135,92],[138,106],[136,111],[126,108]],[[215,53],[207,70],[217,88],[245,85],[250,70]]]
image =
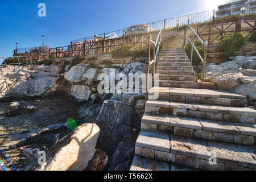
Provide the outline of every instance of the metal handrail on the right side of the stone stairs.
[[[190,30],[193,32],[193,36],[192,36],[192,40],[189,39],[188,37],[188,28],[190,28]],[[207,63],[207,47],[208,47],[208,42],[205,41],[203,42],[203,40],[200,38],[199,35],[197,35],[196,31],[190,26],[190,24],[188,23],[188,26],[186,27],[185,30],[185,45],[187,45],[187,39],[189,40],[189,42],[191,43],[191,63],[193,61],[193,50],[195,49],[197,56],[199,56],[199,59],[201,60],[202,64],[203,64],[203,73],[202,73],[202,80],[204,81],[204,77],[205,77],[205,65]],[[201,42],[201,44],[204,45],[204,58],[200,55],[199,51],[197,50],[195,44],[194,44],[194,37],[196,36],[196,38]]]

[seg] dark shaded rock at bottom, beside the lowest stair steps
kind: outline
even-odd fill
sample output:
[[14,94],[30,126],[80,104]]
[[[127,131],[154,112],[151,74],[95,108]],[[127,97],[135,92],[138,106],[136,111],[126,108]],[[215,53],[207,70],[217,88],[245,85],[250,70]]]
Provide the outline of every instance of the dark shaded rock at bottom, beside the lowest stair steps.
[[134,158],[134,143],[121,142],[109,159],[108,171],[129,171]]

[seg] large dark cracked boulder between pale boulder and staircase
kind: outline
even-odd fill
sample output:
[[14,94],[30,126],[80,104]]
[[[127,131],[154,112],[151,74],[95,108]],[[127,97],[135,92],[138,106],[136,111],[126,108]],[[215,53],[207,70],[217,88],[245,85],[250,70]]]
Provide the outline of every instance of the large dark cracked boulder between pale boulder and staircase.
[[123,141],[125,134],[133,133],[134,109],[121,101],[106,100],[97,116],[96,124],[101,130],[97,146],[111,155]]

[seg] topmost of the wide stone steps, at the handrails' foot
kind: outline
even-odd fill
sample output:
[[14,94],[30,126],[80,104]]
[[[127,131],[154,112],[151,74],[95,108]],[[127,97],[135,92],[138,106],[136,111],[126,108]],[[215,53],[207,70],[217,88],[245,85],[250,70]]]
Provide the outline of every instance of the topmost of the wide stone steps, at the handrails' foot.
[[[159,76],[159,78],[174,78]],[[179,77],[186,78],[186,77]],[[246,96],[241,96],[235,93],[225,92],[221,90],[209,89],[187,89],[187,88],[167,88],[167,87],[154,87],[148,92],[154,96],[154,100],[176,101],[198,104],[210,104],[221,106],[247,106]]]

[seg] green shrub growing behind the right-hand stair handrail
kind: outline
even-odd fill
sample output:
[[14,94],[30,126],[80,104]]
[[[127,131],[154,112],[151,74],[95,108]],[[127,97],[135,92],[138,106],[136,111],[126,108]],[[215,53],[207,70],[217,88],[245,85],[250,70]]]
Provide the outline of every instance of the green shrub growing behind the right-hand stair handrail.
[[[194,42],[197,51],[200,53],[201,57],[204,57],[204,46],[201,44],[201,42],[199,40],[196,40]],[[191,59],[191,49],[192,49],[192,45],[191,43],[189,43],[187,46],[185,46],[185,51],[187,52],[187,55],[189,57],[189,59]],[[198,66],[202,64],[199,56],[197,55],[195,49],[193,51],[193,59],[192,59],[192,65],[193,66]]]

